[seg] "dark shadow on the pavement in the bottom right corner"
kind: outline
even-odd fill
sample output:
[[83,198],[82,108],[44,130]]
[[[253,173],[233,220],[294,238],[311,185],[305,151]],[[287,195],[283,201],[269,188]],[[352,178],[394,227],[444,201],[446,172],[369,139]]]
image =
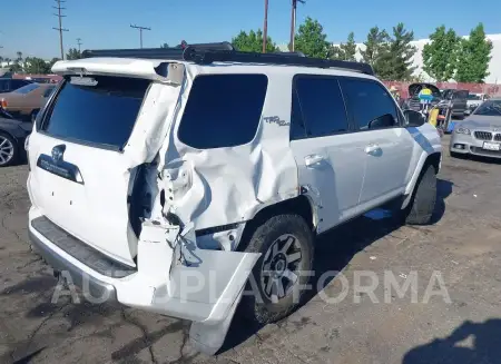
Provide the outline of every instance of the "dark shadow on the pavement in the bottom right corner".
[[[472,344],[466,338],[472,338]],[[402,364],[494,364],[501,362],[501,319],[464,322],[445,338],[409,351]]]

